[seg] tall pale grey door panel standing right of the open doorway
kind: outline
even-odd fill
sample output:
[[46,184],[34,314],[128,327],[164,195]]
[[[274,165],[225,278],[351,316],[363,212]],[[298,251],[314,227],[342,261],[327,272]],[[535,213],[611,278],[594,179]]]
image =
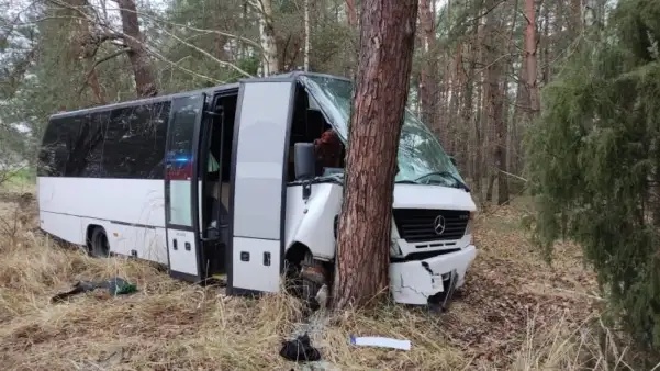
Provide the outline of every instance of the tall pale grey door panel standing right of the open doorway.
[[278,292],[280,288],[294,91],[293,78],[240,81],[230,194],[230,295]]

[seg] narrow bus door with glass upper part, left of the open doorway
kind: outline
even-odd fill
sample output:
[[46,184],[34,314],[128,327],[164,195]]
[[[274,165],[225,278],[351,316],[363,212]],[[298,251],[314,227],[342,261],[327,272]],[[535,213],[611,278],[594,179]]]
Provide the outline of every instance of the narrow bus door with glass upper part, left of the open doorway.
[[189,93],[172,99],[165,149],[165,231],[169,273],[198,282],[203,280],[203,251],[199,246],[199,133],[206,94]]

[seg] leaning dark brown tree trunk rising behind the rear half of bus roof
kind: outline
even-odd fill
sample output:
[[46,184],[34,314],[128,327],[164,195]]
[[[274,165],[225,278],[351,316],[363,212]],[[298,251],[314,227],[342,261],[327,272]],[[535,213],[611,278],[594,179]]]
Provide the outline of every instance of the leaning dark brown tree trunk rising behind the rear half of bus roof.
[[158,86],[152,71],[152,61],[144,47],[144,40],[137,22],[137,9],[133,0],[118,0],[122,18],[124,42],[128,46],[128,60],[133,67],[135,90],[138,97],[154,97],[158,94]]

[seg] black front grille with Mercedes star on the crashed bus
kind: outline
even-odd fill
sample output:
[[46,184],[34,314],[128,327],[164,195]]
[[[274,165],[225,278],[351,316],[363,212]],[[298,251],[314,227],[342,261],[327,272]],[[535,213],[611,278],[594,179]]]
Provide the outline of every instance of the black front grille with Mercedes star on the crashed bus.
[[466,233],[470,212],[458,210],[394,209],[394,224],[407,243],[459,239]]

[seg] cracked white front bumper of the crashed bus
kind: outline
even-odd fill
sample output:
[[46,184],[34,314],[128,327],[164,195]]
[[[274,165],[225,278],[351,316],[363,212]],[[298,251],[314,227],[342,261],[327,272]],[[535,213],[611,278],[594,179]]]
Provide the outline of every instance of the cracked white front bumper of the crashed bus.
[[466,273],[477,256],[474,245],[437,257],[390,263],[390,292],[396,303],[424,305],[443,293],[451,272],[458,274],[456,288],[463,285]]

